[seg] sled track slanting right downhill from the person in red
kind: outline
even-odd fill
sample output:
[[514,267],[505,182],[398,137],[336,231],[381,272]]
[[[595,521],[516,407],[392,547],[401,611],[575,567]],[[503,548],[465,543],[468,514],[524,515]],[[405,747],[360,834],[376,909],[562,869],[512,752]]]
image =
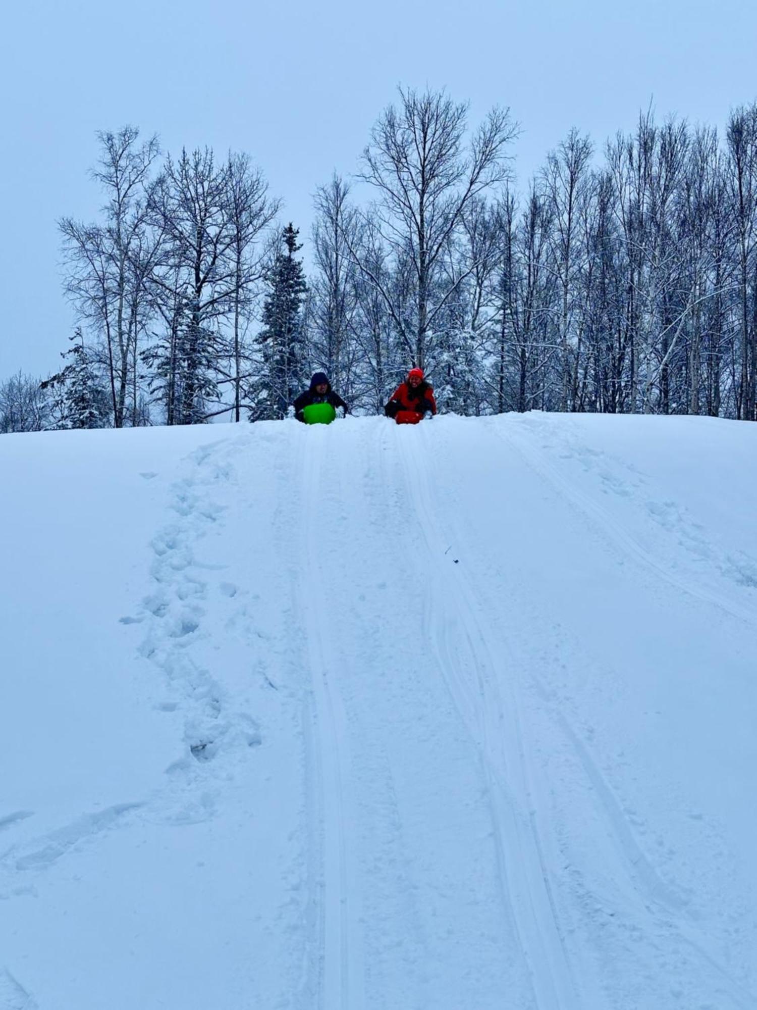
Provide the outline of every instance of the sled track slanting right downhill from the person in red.
[[[509,662],[505,643],[495,640],[482,623],[475,592],[447,552],[449,541],[436,517],[421,451],[425,432],[399,434],[409,498],[428,553],[433,594],[426,615],[429,643],[478,750],[503,901],[516,925],[536,1005],[543,1010],[579,1010],[587,1003],[576,991],[534,816],[535,784],[524,754],[514,684],[517,671],[503,671]],[[507,703],[501,694],[506,683],[510,684]]]

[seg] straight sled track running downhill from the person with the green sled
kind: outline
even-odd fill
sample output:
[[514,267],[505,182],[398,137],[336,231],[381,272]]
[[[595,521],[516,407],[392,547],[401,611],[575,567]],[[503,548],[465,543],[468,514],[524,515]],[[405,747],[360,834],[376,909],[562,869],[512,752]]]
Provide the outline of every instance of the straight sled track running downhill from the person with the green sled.
[[[326,431],[325,427],[320,429],[316,425],[305,429],[302,435],[307,436],[307,444],[303,437],[300,449],[305,508],[303,557],[306,588],[311,589],[321,586],[324,580],[316,534],[317,514],[309,506],[322,497]],[[357,898],[351,886],[353,853],[348,831],[354,818],[349,813],[347,719],[338,688],[332,683],[338,668],[331,653],[330,615],[324,596],[316,588],[315,592],[306,592],[300,604],[305,618],[313,699],[314,727],[313,731],[307,731],[308,750],[319,794],[319,802],[314,806],[320,823],[314,825],[312,835],[317,831],[320,839],[311,836],[311,845],[320,847],[322,853],[317,926],[320,934],[316,966],[318,1006],[324,1010],[357,1010],[363,1004],[363,981],[356,931]],[[315,811],[311,816],[313,813]]]

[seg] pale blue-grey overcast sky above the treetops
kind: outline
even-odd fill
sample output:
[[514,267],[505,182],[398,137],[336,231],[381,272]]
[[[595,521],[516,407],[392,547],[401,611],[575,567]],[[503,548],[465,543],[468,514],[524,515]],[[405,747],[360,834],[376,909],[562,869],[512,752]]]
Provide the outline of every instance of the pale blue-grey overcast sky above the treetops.
[[0,41],[0,380],[49,374],[73,316],[62,215],[92,219],[95,131],[138,126],[165,149],[247,152],[307,239],[312,194],[349,175],[398,84],[446,88],[475,124],[522,125],[522,184],[575,125],[601,148],[653,101],[723,126],[757,98],[747,0],[59,0],[14,4]]

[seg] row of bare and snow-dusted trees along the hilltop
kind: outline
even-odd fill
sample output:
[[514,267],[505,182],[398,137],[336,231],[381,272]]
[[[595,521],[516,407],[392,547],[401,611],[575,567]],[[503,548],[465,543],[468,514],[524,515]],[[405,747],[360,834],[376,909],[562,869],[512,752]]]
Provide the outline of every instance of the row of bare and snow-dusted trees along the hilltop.
[[524,186],[518,133],[400,89],[310,235],[246,154],[98,134],[100,218],[59,221],[78,325],[0,381],[0,431],[282,418],[320,369],[374,413],[413,365],[460,414],[757,419],[757,104],[573,129]]

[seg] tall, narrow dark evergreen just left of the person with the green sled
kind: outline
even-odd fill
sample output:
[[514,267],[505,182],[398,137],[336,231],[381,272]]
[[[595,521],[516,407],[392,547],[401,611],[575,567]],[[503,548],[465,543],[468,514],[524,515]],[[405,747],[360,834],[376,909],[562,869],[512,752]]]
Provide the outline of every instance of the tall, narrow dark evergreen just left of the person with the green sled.
[[277,254],[266,277],[263,328],[256,343],[262,352],[260,377],[251,391],[250,420],[287,416],[303,377],[302,306],[307,285],[302,261],[295,258],[299,230],[290,223],[282,233],[285,249]]

